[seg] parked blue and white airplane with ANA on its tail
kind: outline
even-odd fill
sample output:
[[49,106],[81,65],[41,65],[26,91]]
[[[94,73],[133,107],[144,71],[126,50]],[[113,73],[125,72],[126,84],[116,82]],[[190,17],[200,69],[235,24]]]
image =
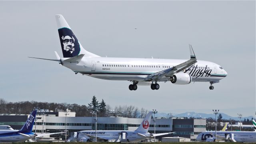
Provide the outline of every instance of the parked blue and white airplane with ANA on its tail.
[[32,128],[36,118],[36,111],[37,110],[33,110],[33,112],[28,117],[28,120],[20,130],[13,130],[11,127],[0,130],[0,142],[22,142],[35,137],[64,133],[57,132],[47,134],[34,134],[32,132]]

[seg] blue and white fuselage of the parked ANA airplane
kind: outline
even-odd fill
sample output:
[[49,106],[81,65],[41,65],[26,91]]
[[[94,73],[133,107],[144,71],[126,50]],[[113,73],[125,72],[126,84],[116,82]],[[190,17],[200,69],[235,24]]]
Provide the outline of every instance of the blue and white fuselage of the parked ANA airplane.
[[24,133],[30,137],[18,133],[19,130],[0,130],[0,142],[23,142],[36,136],[32,132]]

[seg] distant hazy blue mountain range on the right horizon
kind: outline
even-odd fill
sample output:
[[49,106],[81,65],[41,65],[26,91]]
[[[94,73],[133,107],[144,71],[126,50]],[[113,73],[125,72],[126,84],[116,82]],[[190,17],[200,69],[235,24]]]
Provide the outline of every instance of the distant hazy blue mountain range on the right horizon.
[[[227,114],[224,114],[224,113],[220,113],[222,115],[222,119],[226,119],[226,120],[229,120],[229,119],[234,119],[234,120],[240,120],[238,117],[232,117],[232,116],[229,116]],[[217,117],[219,116],[219,114],[217,114]],[[166,113],[157,113],[156,114],[156,117],[170,117],[168,114]],[[204,113],[196,113],[196,112],[185,112],[185,113],[182,113],[182,114],[172,114],[172,117],[194,117],[194,118],[213,118],[215,119],[215,114],[204,114]],[[253,116],[246,116],[246,117],[242,117],[241,118],[241,121],[244,121],[244,119],[247,120],[247,118],[249,120],[252,119]],[[255,119],[255,117],[253,117]]]

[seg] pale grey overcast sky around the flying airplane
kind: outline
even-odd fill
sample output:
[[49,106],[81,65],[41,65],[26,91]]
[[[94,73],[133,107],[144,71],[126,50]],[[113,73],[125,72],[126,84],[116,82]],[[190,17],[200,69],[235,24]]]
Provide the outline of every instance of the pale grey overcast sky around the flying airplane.
[[[219,64],[228,76],[159,90],[128,81],[74,74],[62,56],[54,14],[62,14],[86,50],[99,56],[189,59]],[[114,108],[255,116],[255,1],[0,1],[0,98],[88,104],[92,96]],[[135,29],[136,28],[136,29]]]

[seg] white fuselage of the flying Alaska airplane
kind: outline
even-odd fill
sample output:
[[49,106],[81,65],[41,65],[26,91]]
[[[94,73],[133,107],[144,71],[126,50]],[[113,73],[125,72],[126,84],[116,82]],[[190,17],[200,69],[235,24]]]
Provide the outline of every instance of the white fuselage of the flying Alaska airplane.
[[[158,58],[82,58],[79,63],[65,62],[63,66],[74,72],[105,80],[136,80],[144,81],[150,74],[172,68],[186,60]],[[193,82],[218,82],[227,72],[218,64],[198,60],[192,67],[186,68]],[[183,72],[185,72],[183,71]],[[170,77],[162,77],[158,81],[168,81]]]

